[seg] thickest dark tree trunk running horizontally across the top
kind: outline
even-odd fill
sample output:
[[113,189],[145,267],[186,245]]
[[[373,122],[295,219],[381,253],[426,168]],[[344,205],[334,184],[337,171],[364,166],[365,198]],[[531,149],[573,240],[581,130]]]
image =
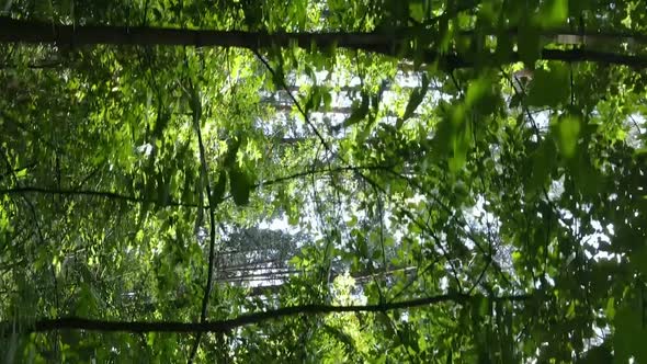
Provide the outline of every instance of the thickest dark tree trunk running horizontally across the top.
[[[553,36],[555,32],[549,32]],[[262,46],[286,47],[296,45],[311,49],[313,44],[321,48],[337,46],[401,58],[401,47],[408,45],[413,35],[421,36],[416,29],[398,29],[389,32],[330,32],[330,33],[265,33],[241,31],[201,31],[145,26],[107,25],[57,25],[30,20],[0,16],[0,43],[54,43],[57,45],[168,45],[168,46],[220,46],[240,47],[256,52]],[[582,34],[580,34],[582,35]],[[433,36],[433,32],[429,34]],[[587,36],[587,34],[583,34]],[[603,34],[591,34],[601,37]],[[638,39],[643,41],[643,39]],[[407,55],[405,55],[407,57]],[[587,49],[543,49],[541,59],[563,61],[594,61],[647,68],[647,57]],[[427,64],[438,62],[441,69],[474,67],[468,55],[440,54],[433,49],[422,53]],[[512,52],[508,59],[491,57],[489,66],[499,66],[520,60],[519,53]]]

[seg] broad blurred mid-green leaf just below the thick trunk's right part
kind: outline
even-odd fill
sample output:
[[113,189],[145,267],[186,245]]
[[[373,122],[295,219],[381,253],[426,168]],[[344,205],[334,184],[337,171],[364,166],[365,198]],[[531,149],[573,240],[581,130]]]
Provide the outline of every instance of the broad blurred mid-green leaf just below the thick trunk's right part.
[[565,103],[569,95],[568,69],[560,64],[552,64],[550,70],[534,71],[525,102],[529,106],[557,107]]

